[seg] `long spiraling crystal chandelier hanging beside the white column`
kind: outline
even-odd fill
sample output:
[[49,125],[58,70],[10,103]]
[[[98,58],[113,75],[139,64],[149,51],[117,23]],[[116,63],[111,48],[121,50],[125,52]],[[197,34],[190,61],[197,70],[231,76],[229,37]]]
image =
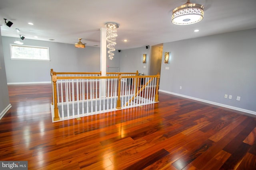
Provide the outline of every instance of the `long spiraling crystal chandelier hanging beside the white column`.
[[119,27],[117,23],[114,22],[108,22],[106,23],[107,27],[107,35],[106,35],[106,41],[107,41],[107,48],[108,48],[108,57],[110,60],[114,58],[114,51],[115,45],[116,45],[116,37],[117,37],[117,28]]

